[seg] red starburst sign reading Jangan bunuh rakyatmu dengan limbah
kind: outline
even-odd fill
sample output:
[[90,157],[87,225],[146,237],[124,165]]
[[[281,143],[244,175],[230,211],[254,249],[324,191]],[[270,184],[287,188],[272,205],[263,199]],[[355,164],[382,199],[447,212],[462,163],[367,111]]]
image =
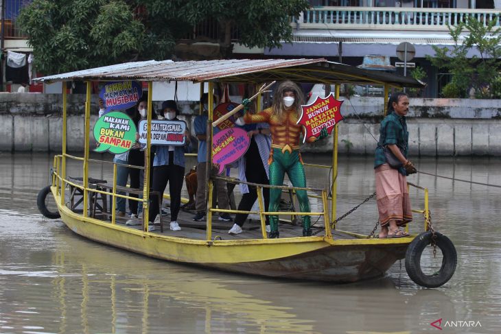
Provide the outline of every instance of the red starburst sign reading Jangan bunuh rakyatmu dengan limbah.
[[327,132],[331,134],[336,123],[343,119],[340,112],[341,104],[342,101],[334,99],[334,95],[330,93],[325,98],[316,97],[312,104],[301,106],[303,113],[297,123],[306,129],[303,143],[312,136],[318,138],[323,128],[327,128]]

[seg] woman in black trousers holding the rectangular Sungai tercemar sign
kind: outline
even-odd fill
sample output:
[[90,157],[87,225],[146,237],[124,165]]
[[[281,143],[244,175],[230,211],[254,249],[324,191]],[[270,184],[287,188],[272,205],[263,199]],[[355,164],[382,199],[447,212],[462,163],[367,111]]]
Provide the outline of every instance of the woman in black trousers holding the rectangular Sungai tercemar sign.
[[[168,121],[179,121],[177,118],[179,110],[176,102],[172,99],[163,102],[162,112],[163,117]],[[177,219],[181,206],[181,189],[185,177],[185,152],[189,152],[191,146],[188,130],[185,131],[185,138],[185,145],[183,146],[155,145],[156,153],[153,160],[152,191],[159,191],[159,193],[163,194],[167,183],[169,183],[170,229],[175,231],[181,230]],[[154,219],[154,224],[159,223],[159,215],[161,214],[159,212],[158,198],[153,196],[149,222]]]

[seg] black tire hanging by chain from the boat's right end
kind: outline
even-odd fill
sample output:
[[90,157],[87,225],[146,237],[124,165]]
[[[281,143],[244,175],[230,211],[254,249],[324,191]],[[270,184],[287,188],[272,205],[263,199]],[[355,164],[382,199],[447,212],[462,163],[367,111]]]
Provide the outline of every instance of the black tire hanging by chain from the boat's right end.
[[423,232],[409,244],[406,251],[406,271],[410,279],[422,287],[440,287],[450,280],[456,271],[458,255],[452,241],[440,232],[435,232],[436,247],[442,252],[442,266],[438,272],[427,275],[421,270],[421,254],[432,241],[432,232]]

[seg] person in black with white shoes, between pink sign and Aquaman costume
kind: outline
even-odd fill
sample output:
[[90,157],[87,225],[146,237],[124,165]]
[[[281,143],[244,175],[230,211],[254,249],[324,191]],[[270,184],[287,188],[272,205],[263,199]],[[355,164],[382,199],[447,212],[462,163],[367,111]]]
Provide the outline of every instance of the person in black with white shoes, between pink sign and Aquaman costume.
[[[242,181],[259,184],[270,184],[270,169],[268,168],[268,157],[270,156],[270,126],[267,123],[246,124],[242,126],[250,137],[250,144],[247,152],[239,160],[238,178]],[[254,186],[240,183],[242,200],[238,204],[237,210],[250,211],[257,200],[257,189]],[[270,206],[270,188],[263,188],[264,207]],[[235,224],[228,231],[230,235],[242,233],[242,226],[248,217],[248,213],[237,213]],[[266,232],[270,232],[270,219],[266,215]]]

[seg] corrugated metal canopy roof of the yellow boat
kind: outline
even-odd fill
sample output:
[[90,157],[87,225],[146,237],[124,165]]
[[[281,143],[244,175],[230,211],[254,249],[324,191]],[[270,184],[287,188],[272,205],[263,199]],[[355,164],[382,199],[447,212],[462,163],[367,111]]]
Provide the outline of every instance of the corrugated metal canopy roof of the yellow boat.
[[224,83],[261,83],[293,80],[316,84],[388,84],[395,87],[423,88],[425,84],[410,77],[358,69],[339,62],[318,59],[229,59],[148,60],[126,62],[82,71],[38,77],[40,82],[137,80],[154,82],[191,81]]

